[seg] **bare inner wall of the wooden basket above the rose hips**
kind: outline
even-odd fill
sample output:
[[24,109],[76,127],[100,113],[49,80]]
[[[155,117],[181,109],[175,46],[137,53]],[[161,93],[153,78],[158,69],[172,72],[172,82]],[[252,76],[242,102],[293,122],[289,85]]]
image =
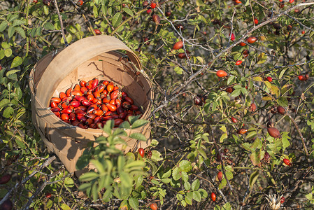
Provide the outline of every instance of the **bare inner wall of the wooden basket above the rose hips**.
[[80,80],[89,81],[93,78],[112,81],[122,91],[127,92],[129,97],[134,99],[134,104],[141,107],[143,112],[148,108],[151,91],[148,81],[142,73],[137,73],[134,65],[124,57],[124,54],[116,51],[102,53],[80,64],[60,81],[51,97],[65,92]]

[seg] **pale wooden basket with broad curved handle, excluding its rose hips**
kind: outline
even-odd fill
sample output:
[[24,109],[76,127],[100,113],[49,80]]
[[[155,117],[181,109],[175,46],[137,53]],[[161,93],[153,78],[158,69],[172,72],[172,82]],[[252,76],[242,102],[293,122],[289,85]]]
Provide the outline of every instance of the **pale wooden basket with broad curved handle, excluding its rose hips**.
[[[127,54],[117,51],[124,50]],[[152,109],[152,85],[142,71],[141,62],[127,45],[113,36],[91,36],[80,39],[61,52],[51,52],[39,60],[31,70],[31,117],[45,145],[63,162],[69,172],[76,172],[76,162],[88,142],[106,136],[101,129],[82,129],[64,123],[50,111],[50,99],[58,96],[79,80],[99,78],[122,87],[142,107],[143,119]],[[137,151],[150,145],[150,125],[127,130],[140,132],[147,141],[125,139],[127,151]],[[119,146],[122,149],[122,145]]]

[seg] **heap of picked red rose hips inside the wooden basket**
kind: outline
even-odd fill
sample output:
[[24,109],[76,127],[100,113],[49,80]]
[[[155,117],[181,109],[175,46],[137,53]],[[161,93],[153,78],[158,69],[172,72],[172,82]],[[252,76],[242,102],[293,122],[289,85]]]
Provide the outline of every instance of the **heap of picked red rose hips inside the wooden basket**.
[[50,110],[64,122],[81,128],[101,128],[107,120],[119,126],[129,116],[141,115],[126,92],[108,80],[94,78],[52,97]]

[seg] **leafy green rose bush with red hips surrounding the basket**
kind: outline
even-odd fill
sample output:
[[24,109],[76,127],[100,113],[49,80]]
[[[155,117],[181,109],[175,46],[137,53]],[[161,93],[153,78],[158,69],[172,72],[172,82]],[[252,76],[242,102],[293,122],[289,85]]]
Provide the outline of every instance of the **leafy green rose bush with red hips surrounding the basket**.
[[[313,208],[313,1],[0,7],[2,209]],[[123,128],[147,122],[111,132],[108,121],[109,137],[78,162],[97,170],[77,179],[31,123],[28,76],[48,52],[104,34],[134,50],[152,81],[152,144],[124,155]]]

